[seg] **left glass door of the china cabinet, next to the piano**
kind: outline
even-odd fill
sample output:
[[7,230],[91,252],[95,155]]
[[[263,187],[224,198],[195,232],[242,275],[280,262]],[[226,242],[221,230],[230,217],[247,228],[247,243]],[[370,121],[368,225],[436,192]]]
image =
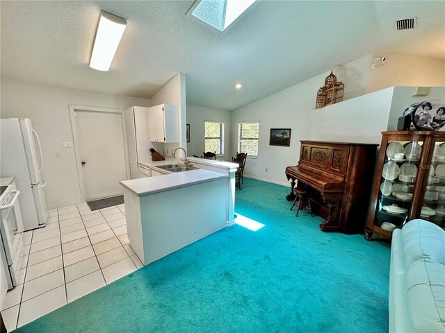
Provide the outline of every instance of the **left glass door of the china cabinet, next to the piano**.
[[374,225],[382,230],[392,232],[407,221],[420,167],[422,146],[423,142],[417,141],[387,143],[374,217]]

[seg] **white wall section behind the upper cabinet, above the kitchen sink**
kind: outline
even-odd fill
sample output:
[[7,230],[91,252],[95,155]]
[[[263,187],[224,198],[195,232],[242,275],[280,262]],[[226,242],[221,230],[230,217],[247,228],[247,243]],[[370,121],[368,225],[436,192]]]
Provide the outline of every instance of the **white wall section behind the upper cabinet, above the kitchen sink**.
[[[163,103],[178,105],[179,112],[179,144],[161,144],[153,143],[156,151],[162,155],[170,156],[177,147],[186,148],[186,75],[177,74],[170,82],[168,82],[159,92],[150,99],[152,105]],[[179,153],[179,152],[178,152]],[[179,155],[177,153],[177,157]]]

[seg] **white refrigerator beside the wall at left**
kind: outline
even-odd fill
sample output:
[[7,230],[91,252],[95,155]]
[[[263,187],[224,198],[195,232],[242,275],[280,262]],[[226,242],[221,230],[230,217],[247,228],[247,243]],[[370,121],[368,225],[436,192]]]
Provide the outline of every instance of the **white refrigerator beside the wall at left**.
[[44,227],[48,210],[42,147],[31,119],[0,119],[0,176],[15,176],[24,230]]

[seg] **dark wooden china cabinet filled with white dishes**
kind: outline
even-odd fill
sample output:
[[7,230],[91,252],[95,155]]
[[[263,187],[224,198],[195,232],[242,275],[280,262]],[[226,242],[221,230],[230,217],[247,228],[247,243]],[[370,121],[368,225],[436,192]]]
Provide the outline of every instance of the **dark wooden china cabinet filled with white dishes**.
[[382,132],[366,239],[391,239],[412,219],[445,228],[445,132]]

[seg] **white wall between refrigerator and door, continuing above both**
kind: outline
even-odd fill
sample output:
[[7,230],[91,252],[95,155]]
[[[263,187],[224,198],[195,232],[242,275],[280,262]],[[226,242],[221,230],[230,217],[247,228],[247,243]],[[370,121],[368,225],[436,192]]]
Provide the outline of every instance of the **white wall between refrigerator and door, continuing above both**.
[[[39,133],[44,159],[42,177],[48,181],[45,193],[49,207],[81,200],[74,149],[62,146],[62,142],[73,142],[70,104],[118,109],[151,106],[149,99],[1,78],[0,116],[31,118]],[[62,157],[56,158],[56,151],[62,151]]]

